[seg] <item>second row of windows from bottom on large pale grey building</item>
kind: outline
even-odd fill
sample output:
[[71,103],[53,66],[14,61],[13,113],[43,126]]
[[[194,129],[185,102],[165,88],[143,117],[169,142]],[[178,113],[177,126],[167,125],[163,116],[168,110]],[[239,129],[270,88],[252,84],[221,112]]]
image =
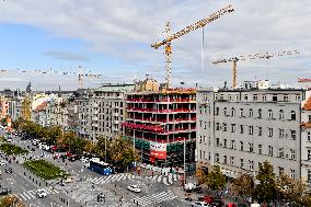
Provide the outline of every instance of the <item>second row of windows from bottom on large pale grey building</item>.
[[[230,146],[229,146],[230,145]],[[230,143],[229,141],[227,142],[227,139],[223,139],[223,141],[220,143],[219,138],[216,138],[216,147],[222,147],[222,148],[229,148],[229,149],[233,149],[237,150],[237,146],[235,146],[235,140],[231,140]],[[246,148],[246,147],[245,147]],[[247,152],[255,152],[254,151],[254,143],[249,142],[249,149],[244,149],[244,142],[240,141],[240,146],[239,146],[239,150],[240,151],[247,151]],[[258,154],[263,154],[263,145],[258,145],[257,147],[257,153]],[[273,146],[268,146],[267,148],[267,156],[273,157],[274,156],[274,147]],[[290,154],[285,154],[285,149],[284,148],[278,148],[278,158],[288,158],[290,160],[296,160],[296,150],[293,149],[289,149]],[[309,150],[308,150],[308,160],[311,160],[311,150],[310,150],[310,154],[309,154]]]

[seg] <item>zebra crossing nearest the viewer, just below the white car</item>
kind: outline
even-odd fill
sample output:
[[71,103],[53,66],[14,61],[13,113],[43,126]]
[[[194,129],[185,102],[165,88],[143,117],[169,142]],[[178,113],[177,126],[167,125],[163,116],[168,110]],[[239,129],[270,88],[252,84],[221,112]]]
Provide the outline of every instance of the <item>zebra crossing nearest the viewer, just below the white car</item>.
[[136,197],[134,202],[138,202],[139,206],[150,206],[151,204],[158,204],[165,200],[172,200],[177,198],[171,191],[169,192],[161,192],[143,197]]

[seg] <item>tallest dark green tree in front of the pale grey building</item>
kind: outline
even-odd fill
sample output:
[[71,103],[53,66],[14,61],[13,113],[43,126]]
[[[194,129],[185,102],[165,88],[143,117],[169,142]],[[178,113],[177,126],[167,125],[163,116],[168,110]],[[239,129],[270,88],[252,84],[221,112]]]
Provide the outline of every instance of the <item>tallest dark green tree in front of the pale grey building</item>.
[[260,184],[255,188],[260,202],[270,202],[277,198],[277,185],[273,165],[265,161],[260,164],[260,171],[256,175]]

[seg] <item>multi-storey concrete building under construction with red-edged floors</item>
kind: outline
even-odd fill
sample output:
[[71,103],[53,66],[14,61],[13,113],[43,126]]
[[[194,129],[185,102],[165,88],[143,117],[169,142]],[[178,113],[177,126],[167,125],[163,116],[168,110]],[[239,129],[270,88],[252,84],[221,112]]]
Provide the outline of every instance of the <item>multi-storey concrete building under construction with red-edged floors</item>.
[[[124,135],[140,151],[141,161],[158,166],[195,162],[196,90],[169,89],[128,93]],[[184,149],[186,142],[186,149]]]

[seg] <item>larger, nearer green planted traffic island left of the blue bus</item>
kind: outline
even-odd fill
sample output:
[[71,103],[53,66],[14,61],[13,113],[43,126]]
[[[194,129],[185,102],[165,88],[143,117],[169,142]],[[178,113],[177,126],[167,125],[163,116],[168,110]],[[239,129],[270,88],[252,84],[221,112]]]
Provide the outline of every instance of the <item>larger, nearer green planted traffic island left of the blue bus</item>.
[[23,163],[23,166],[44,180],[55,180],[58,177],[69,176],[70,174],[59,166],[45,160],[31,160]]

